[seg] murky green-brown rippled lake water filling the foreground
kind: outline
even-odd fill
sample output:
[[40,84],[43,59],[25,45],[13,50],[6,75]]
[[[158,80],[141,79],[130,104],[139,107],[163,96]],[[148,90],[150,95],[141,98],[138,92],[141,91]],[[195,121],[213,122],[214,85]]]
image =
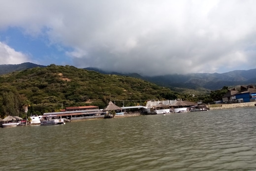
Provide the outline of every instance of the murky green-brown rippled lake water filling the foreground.
[[256,170],[256,107],[0,128],[0,170]]

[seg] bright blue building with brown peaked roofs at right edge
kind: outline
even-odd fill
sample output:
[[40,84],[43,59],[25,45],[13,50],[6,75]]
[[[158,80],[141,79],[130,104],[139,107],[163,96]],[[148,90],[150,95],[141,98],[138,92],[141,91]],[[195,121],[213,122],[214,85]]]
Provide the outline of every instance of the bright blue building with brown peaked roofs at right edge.
[[256,99],[256,89],[253,85],[243,85],[238,93],[236,93],[238,102],[250,102],[251,99]]

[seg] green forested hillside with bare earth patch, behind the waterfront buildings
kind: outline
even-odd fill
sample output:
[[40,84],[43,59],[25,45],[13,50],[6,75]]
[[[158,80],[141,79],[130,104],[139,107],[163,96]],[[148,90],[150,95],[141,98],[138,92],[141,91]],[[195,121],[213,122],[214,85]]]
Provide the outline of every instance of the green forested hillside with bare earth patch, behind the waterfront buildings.
[[[174,99],[177,93],[138,78],[54,64],[0,76],[2,116],[22,114],[22,104],[26,100],[31,103],[29,114],[42,114],[60,110],[61,106],[103,108],[109,100],[137,100],[134,101],[137,104],[156,98]],[[122,101],[117,103],[123,104]]]

